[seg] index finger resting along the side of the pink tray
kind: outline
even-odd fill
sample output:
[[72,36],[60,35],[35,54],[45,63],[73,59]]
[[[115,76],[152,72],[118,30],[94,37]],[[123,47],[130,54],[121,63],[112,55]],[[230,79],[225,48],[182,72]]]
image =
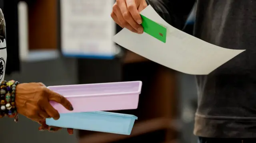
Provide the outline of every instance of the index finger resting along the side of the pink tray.
[[58,102],[60,104],[62,104],[62,106],[64,106],[67,110],[74,110],[73,106],[71,105],[71,103],[62,95],[53,92],[52,90],[46,88],[46,92],[48,93],[48,99]]

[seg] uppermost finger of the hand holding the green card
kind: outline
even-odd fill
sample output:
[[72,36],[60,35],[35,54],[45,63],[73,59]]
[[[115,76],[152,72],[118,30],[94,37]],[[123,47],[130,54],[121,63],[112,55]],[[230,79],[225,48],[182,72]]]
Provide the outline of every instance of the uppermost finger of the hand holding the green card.
[[136,2],[135,0],[126,0],[127,9],[129,10],[130,14],[132,15],[132,18],[138,23],[142,23],[142,19],[140,16],[140,13],[137,10]]

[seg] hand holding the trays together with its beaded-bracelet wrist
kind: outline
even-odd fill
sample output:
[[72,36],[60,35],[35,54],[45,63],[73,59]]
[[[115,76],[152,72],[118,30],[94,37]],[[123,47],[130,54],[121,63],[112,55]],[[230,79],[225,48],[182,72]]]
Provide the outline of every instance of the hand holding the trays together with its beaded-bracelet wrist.
[[[62,104],[67,110],[74,110],[64,96],[48,89],[43,83],[0,82],[0,118],[10,117],[18,121],[18,114],[21,114],[40,123],[40,131],[58,131],[60,127],[48,126],[45,122],[46,118],[60,118],[50,101]],[[68,133],[73,134],[73,129],[68,129]]]

